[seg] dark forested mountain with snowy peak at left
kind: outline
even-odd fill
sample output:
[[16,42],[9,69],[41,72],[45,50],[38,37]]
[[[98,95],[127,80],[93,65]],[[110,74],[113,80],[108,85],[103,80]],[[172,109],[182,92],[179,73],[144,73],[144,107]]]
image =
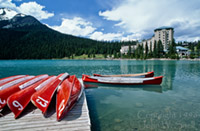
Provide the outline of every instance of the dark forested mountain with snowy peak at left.
[[52,59],[115,54],[125,42],[103,42],[62,34],[30,15],[0,9],[0,59]]

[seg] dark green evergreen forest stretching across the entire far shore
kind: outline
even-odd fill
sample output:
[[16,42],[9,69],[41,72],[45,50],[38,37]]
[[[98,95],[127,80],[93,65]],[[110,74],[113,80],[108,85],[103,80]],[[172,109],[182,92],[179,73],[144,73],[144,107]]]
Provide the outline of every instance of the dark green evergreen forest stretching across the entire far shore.
[[[169,46],[169,51],[164,52],[162,42],[158,41],[154,47],[138,45],[134,51],[130,46],[136,45],[136,41],[96,41],[72,35],[66,35],[49,29],[44,25],[24,26],[23,28],[0,29],[0,59],[53,59],[70,58],[87,55],[95,58],[96,54],[104,55],[104,58],[172,58],[178,59],[175,46],[185,43],[175,43]],[[126,55],[120,54],[122,45],[129,45]],[[190,58],[200,56],[200,41],[188,43],[186,46],[191,50]]]

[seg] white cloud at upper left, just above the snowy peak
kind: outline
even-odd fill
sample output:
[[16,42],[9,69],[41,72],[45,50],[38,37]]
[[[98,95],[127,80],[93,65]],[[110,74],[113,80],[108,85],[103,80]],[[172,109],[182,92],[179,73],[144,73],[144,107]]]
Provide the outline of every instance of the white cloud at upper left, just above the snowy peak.
[[45,6],[36,2],[24,2],[21,5],[16,6],[12,0],[0,0],[0,7],[6,7],[15,10],[18,13],[34,16],[39,20],[48,19],[49,17],[54,16],[54,13],[45,11]]

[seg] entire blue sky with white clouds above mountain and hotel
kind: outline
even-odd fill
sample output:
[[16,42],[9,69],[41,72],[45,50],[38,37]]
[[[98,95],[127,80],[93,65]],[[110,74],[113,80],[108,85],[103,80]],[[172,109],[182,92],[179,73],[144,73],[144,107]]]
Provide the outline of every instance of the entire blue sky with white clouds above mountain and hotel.
[[149,39],[174,28],[176,41],[200,40],[200,0],[0,0],[61,33],[95,40]]

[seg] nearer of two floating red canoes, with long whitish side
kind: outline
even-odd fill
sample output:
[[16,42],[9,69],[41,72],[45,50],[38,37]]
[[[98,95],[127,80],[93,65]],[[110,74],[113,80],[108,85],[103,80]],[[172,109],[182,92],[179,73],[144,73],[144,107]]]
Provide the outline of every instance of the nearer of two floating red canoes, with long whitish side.
[[82,75],[84,82],[93,82],[101,84],[113,85],[160,85],[163,76],[149,77],[149,78],[124,78],[124,77],[96,77],[89,75]]

